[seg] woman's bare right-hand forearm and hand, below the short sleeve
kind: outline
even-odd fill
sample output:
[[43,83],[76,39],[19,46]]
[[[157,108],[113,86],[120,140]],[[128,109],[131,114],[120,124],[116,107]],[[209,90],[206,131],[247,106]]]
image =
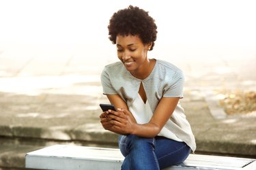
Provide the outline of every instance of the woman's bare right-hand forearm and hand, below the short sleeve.
[[163,97],[158,103],[150,122],[146,124],[137,124],[130,121],[126,116],[129,111],[124,108],[115,112],[119,115],[112,115],[115,120],[112,120],[111,123],[114,129],[122,133],[130,133],[141,137],[155,137],[173,114],[179,99],[178,97]]

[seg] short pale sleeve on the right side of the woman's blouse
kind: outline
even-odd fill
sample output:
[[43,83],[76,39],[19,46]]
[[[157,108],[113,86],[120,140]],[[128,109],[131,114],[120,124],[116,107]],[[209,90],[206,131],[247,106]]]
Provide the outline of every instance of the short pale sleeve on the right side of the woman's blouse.
[[175,71],[171,80],[168,81],[163,97],[183,98],[184,75],[181,70]]

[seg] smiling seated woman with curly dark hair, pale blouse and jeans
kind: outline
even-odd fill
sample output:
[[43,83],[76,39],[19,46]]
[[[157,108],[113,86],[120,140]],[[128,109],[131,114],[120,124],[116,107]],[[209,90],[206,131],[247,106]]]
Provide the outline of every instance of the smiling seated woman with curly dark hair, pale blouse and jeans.
[[163,169],[182,163],[196,148],[179,103],[182,71],[147,58],[154,48],[156,28],[148,12],[132,5],[113,14],[109,22],[109,39],[116,44],[121,62],[106,65],[101,81],[117,112],[103,112],[100,122],[120,135],[122,169]]

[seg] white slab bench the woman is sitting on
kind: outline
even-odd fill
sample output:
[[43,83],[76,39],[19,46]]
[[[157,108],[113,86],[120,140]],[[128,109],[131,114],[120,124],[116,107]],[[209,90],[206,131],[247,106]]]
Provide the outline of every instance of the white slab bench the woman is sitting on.
[[[119,170],[123,160],[124,156],[119,152],[119,149],[55,145],[27,153],[25,167],[52,170]],[[184,163],[165,170],[173,169],[253,170],[256,169],[256,160],[251,158],[190,154]]]

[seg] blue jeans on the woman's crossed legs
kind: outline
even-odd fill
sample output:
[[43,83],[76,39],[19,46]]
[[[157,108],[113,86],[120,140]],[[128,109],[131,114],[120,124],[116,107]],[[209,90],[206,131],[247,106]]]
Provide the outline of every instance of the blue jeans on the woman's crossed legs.
[[125,157],[123,170],[164,169],[182,163],[191,152],[186,143],[160,136],[120,135],[118,143]]

